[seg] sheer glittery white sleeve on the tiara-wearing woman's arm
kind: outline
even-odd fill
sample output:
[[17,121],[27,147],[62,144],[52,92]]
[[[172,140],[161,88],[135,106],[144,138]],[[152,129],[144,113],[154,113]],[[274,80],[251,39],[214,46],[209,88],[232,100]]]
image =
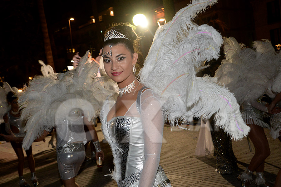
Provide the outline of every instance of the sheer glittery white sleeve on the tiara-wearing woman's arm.
[[158,170],[164,117],[160,98],[152,90],[141,94],[141,122],[144,132],[145,162],[139,187],[152,187]]

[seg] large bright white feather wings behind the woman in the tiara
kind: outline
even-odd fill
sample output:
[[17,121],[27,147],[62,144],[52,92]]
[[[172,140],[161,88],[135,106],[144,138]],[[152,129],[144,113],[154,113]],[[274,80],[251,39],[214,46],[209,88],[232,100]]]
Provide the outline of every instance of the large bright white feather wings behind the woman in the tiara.
[[[217,59],[222,36],[213,27],[197,25],[192,20],[216,0],[193,0],[158,28],[140,71],[142,83],[164,100],[168,120],[192,121],[210,118],[216,113],[216,125],[234,140],[249,132],[232,93],[209,76],[196,77],[202,61]],[[153,76],[152,76],[153,75]]]

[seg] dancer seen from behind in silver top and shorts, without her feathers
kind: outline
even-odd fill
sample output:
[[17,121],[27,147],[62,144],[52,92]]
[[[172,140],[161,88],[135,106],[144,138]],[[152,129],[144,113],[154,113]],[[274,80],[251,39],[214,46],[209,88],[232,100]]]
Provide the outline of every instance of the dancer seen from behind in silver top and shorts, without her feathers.
[[[88,127],[96,148],[96,158],[104,159],[104,153],[92,122],[84,117],[80,108],[72,108],[62,122],[56,122],[57,129],[57,164],[58,170],[65,187],[79,187],[75,177],[85,160],[85,146],[87,142],[84,124]],[[44,130],[43,136],[37,139],[40,141],[47,135]]]

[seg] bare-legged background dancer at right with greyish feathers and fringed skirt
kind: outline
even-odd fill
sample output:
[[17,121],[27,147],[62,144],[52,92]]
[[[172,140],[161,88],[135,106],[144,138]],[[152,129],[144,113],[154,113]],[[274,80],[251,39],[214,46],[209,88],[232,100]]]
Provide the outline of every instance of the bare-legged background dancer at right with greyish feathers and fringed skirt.
[[241,104],[242,117],[251,128],[248,137],[254,144],[255,154],[248,168],[239,175],[241,185],[249,186],[256,171],[256,185],[267,186],[263,172],[270,149],[263,128],[269,126],[263,122],[262,111],[269,113],[269,110],[257,100],[265,93],[267,82],[277,73],[279,63],[273,60],[278,54],[268,40],[254,41],[253,48],[245,48],[233,37],[224,38],[226,60],[222,61],[215,77],[235,94]]

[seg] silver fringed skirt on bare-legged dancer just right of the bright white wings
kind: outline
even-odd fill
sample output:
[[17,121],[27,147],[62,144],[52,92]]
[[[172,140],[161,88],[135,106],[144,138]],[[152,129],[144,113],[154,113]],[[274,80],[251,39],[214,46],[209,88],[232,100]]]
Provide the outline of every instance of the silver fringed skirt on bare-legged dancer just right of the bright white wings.
[[241,104],[241,114],[246,124],[255,124],[261,127],[269,128],[269,125],[263,121],[262,111],[254,108],[250,102]]

